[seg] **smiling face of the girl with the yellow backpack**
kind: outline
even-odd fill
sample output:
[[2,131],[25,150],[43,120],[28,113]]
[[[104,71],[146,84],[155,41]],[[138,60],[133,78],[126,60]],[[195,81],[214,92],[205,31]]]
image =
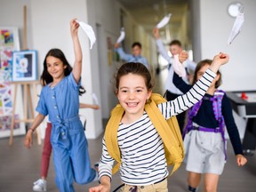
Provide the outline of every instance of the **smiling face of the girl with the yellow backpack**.
[[136,121],[144,113],[146,101],[151,95],[143,76],[129,73],[120,78],[117,98],[125,110],[124,116]]

